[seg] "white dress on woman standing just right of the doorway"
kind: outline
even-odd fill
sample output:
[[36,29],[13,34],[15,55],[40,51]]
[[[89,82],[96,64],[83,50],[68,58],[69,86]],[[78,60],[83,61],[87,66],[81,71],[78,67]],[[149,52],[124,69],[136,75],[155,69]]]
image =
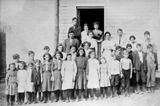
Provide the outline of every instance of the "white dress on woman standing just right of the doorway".
[[107,61],[111,60],[111,49],[115,50],[114,41],[105,40],[102,42],[102,57],[105,57]]

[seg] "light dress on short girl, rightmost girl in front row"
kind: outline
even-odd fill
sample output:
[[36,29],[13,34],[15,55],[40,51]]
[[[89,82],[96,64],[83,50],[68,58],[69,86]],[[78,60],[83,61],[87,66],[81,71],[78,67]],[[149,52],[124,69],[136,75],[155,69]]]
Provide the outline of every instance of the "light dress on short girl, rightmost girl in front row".
[[109,72],[108,72],[108,66],[107,64],[101,64],[100,65],[100,86],[101,87],[108,87],[110,86],[110,79],[109,79]]

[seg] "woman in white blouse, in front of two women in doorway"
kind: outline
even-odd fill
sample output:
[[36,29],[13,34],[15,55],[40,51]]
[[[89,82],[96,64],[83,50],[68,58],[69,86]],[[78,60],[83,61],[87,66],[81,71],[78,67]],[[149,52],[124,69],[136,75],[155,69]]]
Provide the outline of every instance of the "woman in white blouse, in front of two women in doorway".
[[95,39],[93,39],[94,33],[92,31],[88,32],[88,39],[87,41],[91,43],[90,49],[94,50],[95,53],[97,54],[97,42]]

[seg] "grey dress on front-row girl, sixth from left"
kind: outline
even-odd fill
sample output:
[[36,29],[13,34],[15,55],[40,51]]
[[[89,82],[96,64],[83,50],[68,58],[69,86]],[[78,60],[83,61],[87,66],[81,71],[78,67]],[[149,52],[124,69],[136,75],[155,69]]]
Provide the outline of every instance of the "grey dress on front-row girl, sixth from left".
[[62,87],[61,67],[62,67],[62,60],[53,61],[54,81],[52,82],[52,91],[61,90]]

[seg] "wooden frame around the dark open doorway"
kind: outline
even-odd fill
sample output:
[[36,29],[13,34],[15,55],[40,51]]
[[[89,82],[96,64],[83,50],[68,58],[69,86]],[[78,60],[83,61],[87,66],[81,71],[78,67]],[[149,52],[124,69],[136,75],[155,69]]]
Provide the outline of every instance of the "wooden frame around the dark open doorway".
[[76,6],[76,14],[77,14],[77,19],[78,19],[78,24],[80,25],[80,9],[103,9],[104,13],[103,13],[103,30],[105,31],[105,6]]

